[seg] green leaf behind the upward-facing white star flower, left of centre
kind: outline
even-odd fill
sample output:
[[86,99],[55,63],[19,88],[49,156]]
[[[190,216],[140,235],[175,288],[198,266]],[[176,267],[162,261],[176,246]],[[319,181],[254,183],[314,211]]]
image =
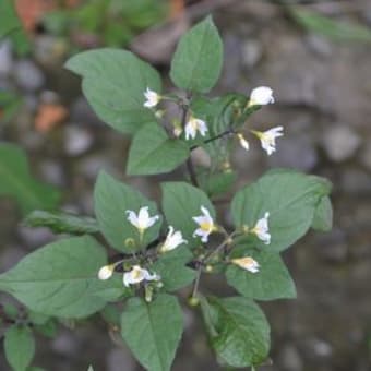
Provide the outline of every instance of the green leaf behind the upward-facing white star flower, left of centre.
[[[149,216],[157,215],[156,203],[105,171],[99,173],[95,184],[94,203],[100,230],[112,248],[130,253],[146,247],[158,237],[161,219],[147,228],[141,240],[139,230],[128,220],[127,215],[128,210],[137,214],[143,206],[149,207]],[[128,243],[128,240],[131,242]]]

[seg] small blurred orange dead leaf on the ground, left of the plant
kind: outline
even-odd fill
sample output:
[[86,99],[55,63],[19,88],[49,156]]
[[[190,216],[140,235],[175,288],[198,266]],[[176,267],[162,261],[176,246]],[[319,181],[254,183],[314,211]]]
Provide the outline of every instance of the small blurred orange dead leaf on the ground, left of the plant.
[[46,133],[63,121],[68,116],[67,109],[58,104],[41,104],[35,118],[35,129]]

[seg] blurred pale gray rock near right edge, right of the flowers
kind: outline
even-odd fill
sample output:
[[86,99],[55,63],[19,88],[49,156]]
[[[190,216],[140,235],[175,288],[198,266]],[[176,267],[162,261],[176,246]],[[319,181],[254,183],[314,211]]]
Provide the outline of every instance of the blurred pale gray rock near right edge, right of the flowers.
[[352,157],[361,144],[358,133],[346,124],[328,128],[322,141],[328,157],[336,163]]

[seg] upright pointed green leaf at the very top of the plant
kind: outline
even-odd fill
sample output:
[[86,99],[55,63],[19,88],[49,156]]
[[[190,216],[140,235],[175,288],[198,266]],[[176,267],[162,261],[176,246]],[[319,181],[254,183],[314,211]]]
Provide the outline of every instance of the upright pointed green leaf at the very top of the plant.
[[223,43],[211,16],[192,27],[179,41],[170,77],[180,88],[207,93],[223,64]]

